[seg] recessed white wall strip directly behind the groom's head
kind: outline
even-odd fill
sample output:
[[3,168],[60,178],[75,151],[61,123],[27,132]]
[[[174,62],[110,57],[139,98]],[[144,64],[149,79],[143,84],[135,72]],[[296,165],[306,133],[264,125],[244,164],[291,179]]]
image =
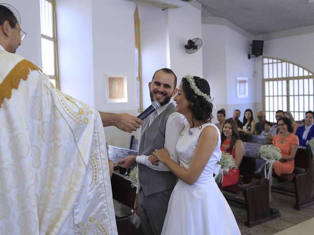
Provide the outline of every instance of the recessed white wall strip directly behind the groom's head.
[[160,7],[138,4],[141,30],[143,108],[151,104],[148,83],[155,71],[167,67],[166,12]]

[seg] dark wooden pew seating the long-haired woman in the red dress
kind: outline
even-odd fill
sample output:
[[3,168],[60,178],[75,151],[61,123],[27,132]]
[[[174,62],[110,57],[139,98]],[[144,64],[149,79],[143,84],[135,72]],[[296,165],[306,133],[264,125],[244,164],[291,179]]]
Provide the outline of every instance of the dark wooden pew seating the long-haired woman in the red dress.
[[230,204],[244,206],[247,210],[245,225],[252,227],[265,221],[280,217],[277,209],[269,207],[269,180],[265,179],[265,161],[258,156],[262,144],[244,142],[244,154],[240,164],[240,175],[248,178],[257,178],[259,182],[245,187],[237,184],[222,188],[223,192],[243,193],[245,201],[224,194]]

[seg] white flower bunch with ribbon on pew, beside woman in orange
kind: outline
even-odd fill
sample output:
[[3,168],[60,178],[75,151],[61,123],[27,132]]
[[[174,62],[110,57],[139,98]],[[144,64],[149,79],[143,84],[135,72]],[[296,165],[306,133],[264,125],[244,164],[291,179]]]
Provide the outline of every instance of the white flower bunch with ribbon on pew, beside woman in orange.
[[281,151],[278,147],[268,144],[260,147],[259,154],[261,158],[266,161],[266,165],[268,166],[268,173],[266,173],[266,167],[264,172],[265,178],[269,180],[274,162],[281,159]]

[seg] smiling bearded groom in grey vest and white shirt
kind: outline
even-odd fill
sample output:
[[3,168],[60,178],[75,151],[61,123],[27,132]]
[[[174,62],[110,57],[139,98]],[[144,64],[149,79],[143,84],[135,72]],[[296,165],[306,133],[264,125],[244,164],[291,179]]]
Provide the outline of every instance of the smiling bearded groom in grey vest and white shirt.
[[165,148],[172,160],[179,163],[176,144],[183,129],[183,116],[176,113],[171,102],[178,89],[177,77],[170,69],[155,72],[148,84],[151,100],[161,107],[144,119],[139,141],[139,156],[127,156],[121,167],[129,168],[138,163],[137,195],[134,209],[139,214],[145,235],[160,235],[167,213],[168,202],[177,177],[163,163],[153,165],[148,161],[155,149]]

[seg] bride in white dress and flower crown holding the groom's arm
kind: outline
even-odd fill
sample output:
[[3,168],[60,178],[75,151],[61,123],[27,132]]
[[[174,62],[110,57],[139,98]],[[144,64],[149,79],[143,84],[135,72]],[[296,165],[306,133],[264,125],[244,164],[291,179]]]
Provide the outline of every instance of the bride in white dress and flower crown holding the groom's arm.
[[[239,235],[235,217],[213,178],[220,160],[220,132],[210,123],[208,82],[186,75],[174,100],[188,122],[178,143],[180,165],[165,149],[153,155],[179,178],[169,201],[162,235]],[[155,162],[156,163],[156,162]],[[217,171],[216,171],[217,173]]]

